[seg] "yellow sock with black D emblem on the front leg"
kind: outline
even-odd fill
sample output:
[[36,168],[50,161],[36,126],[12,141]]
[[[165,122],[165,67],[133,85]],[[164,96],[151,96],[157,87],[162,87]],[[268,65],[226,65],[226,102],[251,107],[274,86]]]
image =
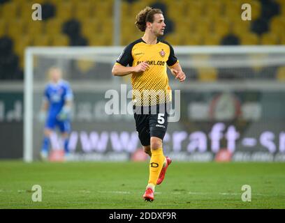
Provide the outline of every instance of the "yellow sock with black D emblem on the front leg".
[[152,150],[152,157],[149,162],[149,184],[156,185],[165,159],[162,148]]

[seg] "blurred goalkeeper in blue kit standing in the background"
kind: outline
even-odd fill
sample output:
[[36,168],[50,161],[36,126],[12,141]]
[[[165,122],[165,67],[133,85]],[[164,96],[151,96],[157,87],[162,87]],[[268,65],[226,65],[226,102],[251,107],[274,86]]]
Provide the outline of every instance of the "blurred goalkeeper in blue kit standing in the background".
[[[60,68],[52,67],[48,71],[50,83],[45,86],[41,119],[45,119],[45,130],[41,148],[41,158],[47,160],[50,148],[50,137],[55,127],[61,132],[64,141],[64,156],[68,157],[68,133],[71,130],[71,106],[73,92],[68,82],[61,79]],[[45,118],[46,117],[46,118]]]

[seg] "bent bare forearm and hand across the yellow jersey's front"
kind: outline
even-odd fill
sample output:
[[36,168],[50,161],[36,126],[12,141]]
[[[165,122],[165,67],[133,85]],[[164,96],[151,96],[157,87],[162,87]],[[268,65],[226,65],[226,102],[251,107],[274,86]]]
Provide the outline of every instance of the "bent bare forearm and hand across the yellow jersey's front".
[[133,72],[145,72],[149,68],[149,65],[145,62],[139,63],[134,67],[125,67],[122,65],[115,64],[112,68],[112,75],[114,76],[126,76]]

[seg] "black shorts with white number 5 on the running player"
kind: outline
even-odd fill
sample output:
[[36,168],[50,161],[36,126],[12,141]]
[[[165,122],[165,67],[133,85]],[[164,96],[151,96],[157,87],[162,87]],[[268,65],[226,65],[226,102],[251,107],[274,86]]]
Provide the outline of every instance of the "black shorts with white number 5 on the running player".
[[170,104],[152,107],[133,106],[136,130],[142,146],[150,145],[150,137],[163,140],[168,125],[169,108]]

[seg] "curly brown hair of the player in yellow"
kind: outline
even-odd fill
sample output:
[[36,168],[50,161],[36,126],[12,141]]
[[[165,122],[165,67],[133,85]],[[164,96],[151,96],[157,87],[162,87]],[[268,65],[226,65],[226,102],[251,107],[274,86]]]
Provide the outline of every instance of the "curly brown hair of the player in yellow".
[[144,32],[147,28],[147,22],[154,22],[154,14],[163,14],[159,8],[145,7],[136,15],[136,26]]

